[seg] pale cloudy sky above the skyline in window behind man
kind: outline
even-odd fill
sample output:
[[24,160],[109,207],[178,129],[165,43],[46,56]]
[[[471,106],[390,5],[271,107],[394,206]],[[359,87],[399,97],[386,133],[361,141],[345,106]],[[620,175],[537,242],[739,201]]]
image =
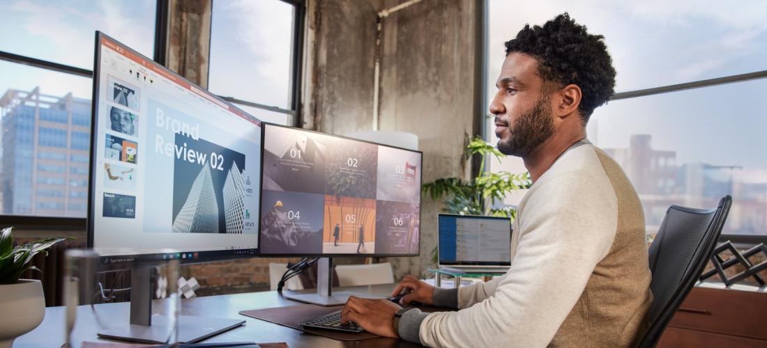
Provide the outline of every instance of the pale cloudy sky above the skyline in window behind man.
[[[618,93],[767,70],[767,2],[489,0],[489,98],[503,43],[565,11],[604,35]],[[630,135],[650,134],[653,148],[676,151],[677,164],[741,165],[743,181],[767,182],[765,99],[767,79],[616,100],[594,111],[588,136],[602,148],[627,148]]]

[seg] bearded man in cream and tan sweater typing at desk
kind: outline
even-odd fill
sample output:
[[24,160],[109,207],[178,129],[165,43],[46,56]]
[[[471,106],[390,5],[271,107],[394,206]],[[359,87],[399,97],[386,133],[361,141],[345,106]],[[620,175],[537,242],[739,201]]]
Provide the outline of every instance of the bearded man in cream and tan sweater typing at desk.
[[490,112],[499,150],[522,157],[533,181],[514,221],[509,272],[450,290],[408,276],[394,289],[410,291],[403,304],[460,311],[350,298],[342,320],[426,346],[637,343],[652,302],[644,214],[624,172],[585,132],[614,93],[602,39],[565,13],[505,44]]

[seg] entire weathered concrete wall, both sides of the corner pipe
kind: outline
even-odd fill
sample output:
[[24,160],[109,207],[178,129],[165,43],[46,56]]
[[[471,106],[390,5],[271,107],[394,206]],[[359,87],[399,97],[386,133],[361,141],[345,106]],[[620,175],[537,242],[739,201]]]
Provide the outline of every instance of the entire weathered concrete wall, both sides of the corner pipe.
[[[372,129],[377,11],[403,0],[318,0],[314,86],[304,94],[304,126],[345,134]],[[380,130],[412,132],[423,151],[423,180],[468,177],[464,144],[475,120],[476,2],[423,0],[384,20],[380,47]],[[307,116],[309,119],[307,119]],[[308,121],[308,122],[307,122]],[[390,258],[395,278],[432,265],[441,204],[423,197],[421,252]]]

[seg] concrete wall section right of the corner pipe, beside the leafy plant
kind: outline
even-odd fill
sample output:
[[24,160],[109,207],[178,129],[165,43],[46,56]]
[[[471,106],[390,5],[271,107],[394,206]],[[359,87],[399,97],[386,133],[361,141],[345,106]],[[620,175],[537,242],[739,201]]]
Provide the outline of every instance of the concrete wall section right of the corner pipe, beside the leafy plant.
[[[469,176],[465,144],[479,133],[475,25],[469,0],[423,0],[384,21],[379,127],[418,135],[424,182]],[[393,260],[397,276],[423,275],[433,265],[442,205],[428,197],[422,202],[420,257]]]

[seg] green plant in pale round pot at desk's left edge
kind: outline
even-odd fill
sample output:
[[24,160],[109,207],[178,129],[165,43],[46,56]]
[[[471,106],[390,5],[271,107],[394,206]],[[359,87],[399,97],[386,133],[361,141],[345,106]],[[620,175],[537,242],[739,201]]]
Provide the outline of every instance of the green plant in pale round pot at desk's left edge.
[[45,315],[45,298],[41,282],[19,279],[28,269],[40,271],[30,264],[32,258],[66,238],[48,238],[13,246],[8,227],[0,233],[0,348],[10,347],[19,337],[38,327]]

